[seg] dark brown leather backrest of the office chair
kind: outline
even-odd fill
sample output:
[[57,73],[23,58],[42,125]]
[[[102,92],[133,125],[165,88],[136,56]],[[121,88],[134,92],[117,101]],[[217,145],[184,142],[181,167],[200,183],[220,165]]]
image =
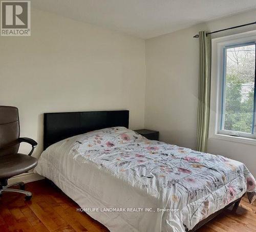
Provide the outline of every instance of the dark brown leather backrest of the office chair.
[[0,106],[0,157],[17,153],[19,119],[16,107]]

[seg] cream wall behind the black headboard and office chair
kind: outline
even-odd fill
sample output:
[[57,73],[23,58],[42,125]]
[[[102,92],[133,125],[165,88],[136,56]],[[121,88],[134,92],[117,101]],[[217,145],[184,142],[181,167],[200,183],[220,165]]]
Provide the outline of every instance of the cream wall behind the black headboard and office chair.
[[142,39],[32,9],[30,37],[0,37],[0,64],[0,105],[18,107],[35,157],[45,112],[125,109],[131,128],[144,126]]

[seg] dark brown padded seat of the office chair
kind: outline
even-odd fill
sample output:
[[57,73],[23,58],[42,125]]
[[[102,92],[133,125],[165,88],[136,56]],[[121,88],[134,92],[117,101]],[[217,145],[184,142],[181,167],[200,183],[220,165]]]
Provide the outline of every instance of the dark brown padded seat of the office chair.
[[27,154],[10,154],[0,157],[0,179],[24,173],[37,165],[37,159]]

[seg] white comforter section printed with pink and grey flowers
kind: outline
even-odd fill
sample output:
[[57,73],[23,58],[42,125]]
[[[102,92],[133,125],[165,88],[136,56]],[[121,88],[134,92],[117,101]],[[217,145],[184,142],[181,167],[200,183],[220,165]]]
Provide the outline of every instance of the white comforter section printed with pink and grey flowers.
[[125,127],[105,128],[65,142],[70,140],[74,160],[110,172],[156,198],[161,209],[175,210],[161,214],[162,227],[169,224],[166,231],[192,229],[245,192],[250,193],[250,201],[256,196],[256,182],[246,166],[222,156],[148,140]]

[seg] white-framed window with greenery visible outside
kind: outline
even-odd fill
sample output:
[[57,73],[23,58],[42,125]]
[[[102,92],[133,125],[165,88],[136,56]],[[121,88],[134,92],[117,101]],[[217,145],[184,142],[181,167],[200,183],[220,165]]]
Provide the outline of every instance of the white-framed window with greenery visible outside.
[[209,138],[256,145],[256,31],[214,38]]

